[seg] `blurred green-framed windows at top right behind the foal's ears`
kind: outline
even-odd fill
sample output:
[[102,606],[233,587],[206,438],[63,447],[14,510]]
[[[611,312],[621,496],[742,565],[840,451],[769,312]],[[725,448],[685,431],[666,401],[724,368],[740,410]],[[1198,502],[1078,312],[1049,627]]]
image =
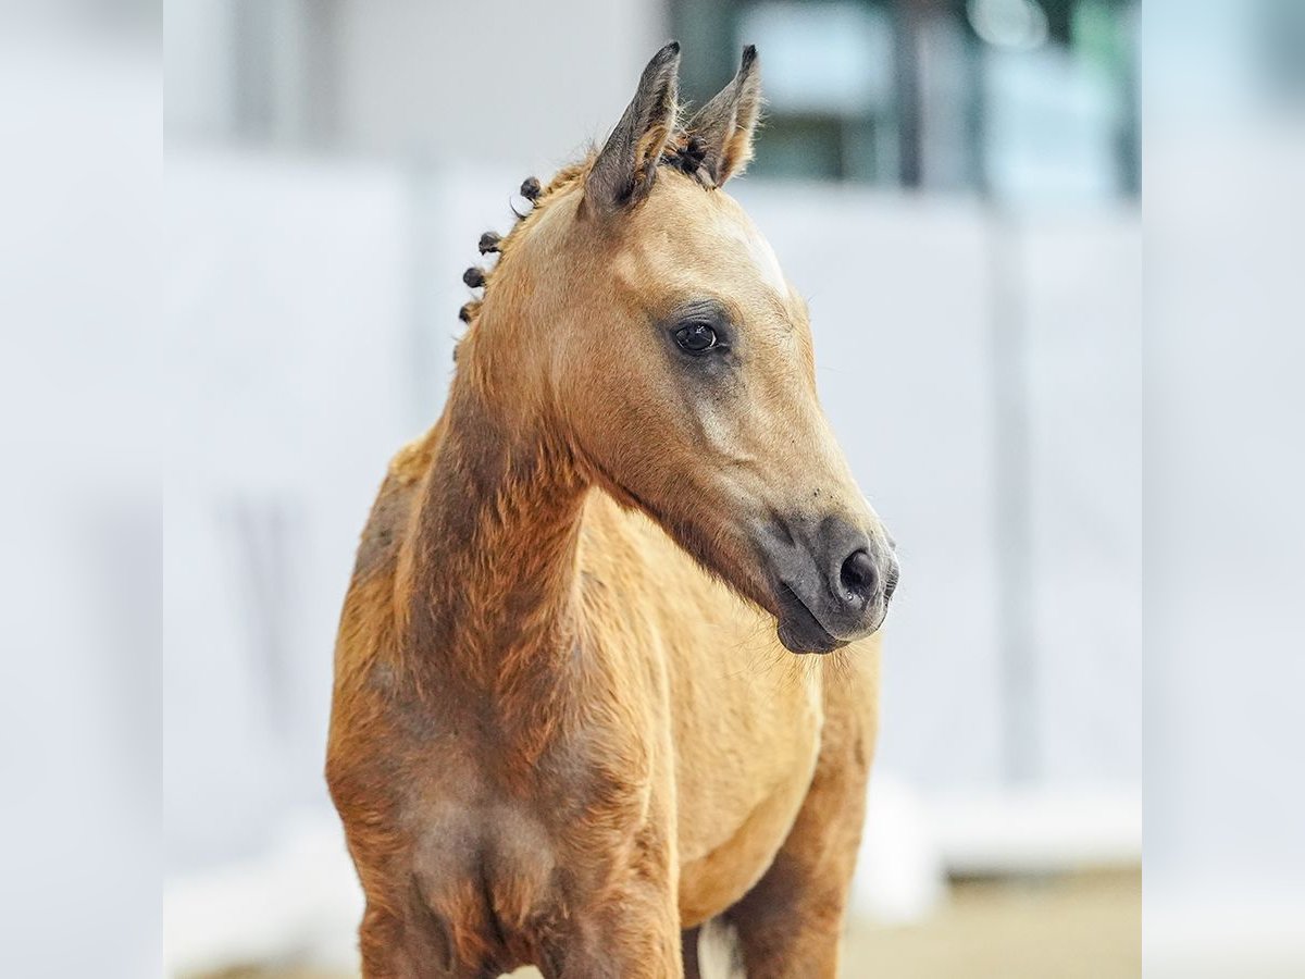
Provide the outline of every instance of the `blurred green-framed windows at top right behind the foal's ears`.
[[[761,48],[770,107],[753,172],[1043,200],[1057,193],[1054,161],[1011,168],[1021,150],[1001,133],[1045,128],[1054,140],[1047,106],[1074,115],[1061,129],[1117,148],[1066,158],[1066,194],[1137,193],[1137,0],[671,0],[693,103],[729,80],[741,44]],[[1011,101],[993,65],[996,82],[1040,73],[1045,98],[1024,84]],[[1107,90],[1084,102],[1088,76]],[[1094,108],[1103,98],[1118,107],[1112,120]],[[1004,167],[1010,179],[988,179]]]

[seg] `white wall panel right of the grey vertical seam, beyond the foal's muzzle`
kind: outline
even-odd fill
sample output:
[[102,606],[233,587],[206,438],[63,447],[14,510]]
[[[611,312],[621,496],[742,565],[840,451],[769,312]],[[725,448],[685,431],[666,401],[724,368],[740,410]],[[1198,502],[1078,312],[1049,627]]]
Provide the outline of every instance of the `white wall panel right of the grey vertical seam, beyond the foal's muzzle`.
[[1030,396],[1034,768],[1142,783],[1142,230],[1031,219],[1019,272]]

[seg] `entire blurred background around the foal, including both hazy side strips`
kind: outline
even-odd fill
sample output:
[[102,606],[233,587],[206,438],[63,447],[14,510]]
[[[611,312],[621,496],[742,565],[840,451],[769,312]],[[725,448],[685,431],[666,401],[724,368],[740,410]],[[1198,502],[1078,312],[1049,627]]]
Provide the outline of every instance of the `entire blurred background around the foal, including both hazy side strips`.
[[675,37],[697,103],[761,51],[729,192],[900,542],[844,975],[1305,974],[1302,13],[0,0],[0,971],[356,975],[358,533]]

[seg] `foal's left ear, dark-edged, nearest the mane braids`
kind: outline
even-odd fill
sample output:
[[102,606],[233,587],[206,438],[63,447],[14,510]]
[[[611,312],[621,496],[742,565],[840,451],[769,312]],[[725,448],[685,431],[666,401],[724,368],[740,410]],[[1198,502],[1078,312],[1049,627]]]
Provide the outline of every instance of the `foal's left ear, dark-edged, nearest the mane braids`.
[[585,202],[598,214],[633,204],[652,187],[666,141],[675,132],[680,44],[672,40],[649,61],[639,87],[585,178]]

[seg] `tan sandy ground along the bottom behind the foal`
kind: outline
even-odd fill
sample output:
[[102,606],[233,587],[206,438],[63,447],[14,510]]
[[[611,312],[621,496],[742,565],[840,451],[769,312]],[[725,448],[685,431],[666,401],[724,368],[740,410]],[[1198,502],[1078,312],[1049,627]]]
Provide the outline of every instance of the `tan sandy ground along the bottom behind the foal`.
[[[925,924],[852,927],[843,959],[844,979],[1141,976],[1142,872],[958,884],[946,907]],[[204,979],[351,976],[244,969]]]

